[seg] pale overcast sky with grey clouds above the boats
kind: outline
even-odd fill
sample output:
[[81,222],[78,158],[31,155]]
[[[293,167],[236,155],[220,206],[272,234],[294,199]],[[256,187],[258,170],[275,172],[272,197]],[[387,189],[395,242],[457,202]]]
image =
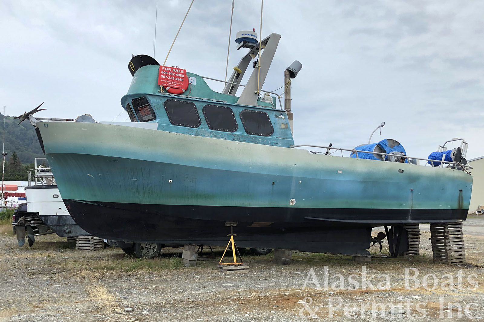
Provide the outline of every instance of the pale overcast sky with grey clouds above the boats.
[[[224,79],[231,2],[195,0],[166,65]],[[160,63],[189,4],[158,1]],[[45,101],[39,117],[127,120],[127,64],[132,53],[153,55],[155,8],[156,0],[1,1],[6,114]],[[296,144],[352,148],[385,122],[372,141],[393,138],[409,156],[426,158],[454,137],[469,143],[468,159],[483,156],[483,13],[483,1],[266,0],[262,36],[282,38],[263,88],[281,87],[284,69],[302,62],[292,81]],[[235,0],[229,74],[246,50],[235,49],[235,33],[252,28],[259,33],[260,1]]]

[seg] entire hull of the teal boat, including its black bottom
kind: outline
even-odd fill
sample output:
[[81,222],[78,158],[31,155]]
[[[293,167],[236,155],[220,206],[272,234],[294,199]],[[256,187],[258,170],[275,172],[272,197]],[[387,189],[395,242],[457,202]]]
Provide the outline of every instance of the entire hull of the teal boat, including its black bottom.
[[73,219],[106,239],[220,244],[237,221],[244,247],[356,254],[372,227],[465,220],[469,208],[460,170],[119,125],[38,128]]

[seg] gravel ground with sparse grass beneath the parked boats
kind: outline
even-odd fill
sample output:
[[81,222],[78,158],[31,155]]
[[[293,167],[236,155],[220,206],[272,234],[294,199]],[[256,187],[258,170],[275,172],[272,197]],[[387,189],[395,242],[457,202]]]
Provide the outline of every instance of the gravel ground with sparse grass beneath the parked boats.
[[[216,260],[182,267],[181,249],[164,249],[157,260],[139,260],[118,248],[75,250],[75,243],[52,235],[39,236],[31,248],[18,248],[11,227],[1,226],[0,321],[484,318],[484,218],[465,222],[467,265],[433,263],[428,225],[421,225],[421,232],[420,256],[390,258],[385,243],[381,253],[378,244],[371,248],[372,262],[366,264],[349,256],[293,252],[290,265],[273,264],[272,254],[247,255],[249,271],[221,273]],[[220,258],[221,249],[215,249],[215,255]],[[415,290],[405,289],[406,268],[411,277],[419,272]],[[413,285],[410,280],[409,286]],[[391,310],[403,313],[392,316]]]

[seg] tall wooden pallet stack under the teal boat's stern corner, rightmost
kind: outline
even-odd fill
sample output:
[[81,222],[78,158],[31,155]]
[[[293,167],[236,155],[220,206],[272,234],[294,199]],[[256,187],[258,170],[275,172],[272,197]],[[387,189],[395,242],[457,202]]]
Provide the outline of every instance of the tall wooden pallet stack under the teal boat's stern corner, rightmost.
[[462,222],[430,224],[434,261],[457,264],[466,262]]

